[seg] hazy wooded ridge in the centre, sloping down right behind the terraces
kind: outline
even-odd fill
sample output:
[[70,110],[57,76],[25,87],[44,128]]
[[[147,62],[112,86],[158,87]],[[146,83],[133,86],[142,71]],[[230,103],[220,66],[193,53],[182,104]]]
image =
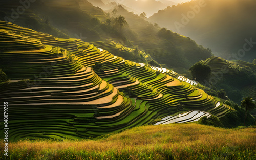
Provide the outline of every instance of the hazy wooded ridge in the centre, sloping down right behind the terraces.
[[132,41],[134,46],[138,46],[144,57],[150,56],[168,68],[188,69],[195,62],[211,56],[209,49],[205,49],[188,37],[152,25],[122,6],[118,6],[116,11],[116,15],[125,17],[130,27],[130,30],[123,31],[123,35]]

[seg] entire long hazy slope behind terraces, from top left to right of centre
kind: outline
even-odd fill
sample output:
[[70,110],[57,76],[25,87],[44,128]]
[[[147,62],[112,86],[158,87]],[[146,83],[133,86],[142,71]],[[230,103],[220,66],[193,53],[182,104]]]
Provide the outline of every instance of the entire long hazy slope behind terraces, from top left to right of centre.
[[[11,17],[12,12],[9,8],[17,8],[19,4],[19,1],[12,1],[11,4],[10,1],[6,1],[0,9],[6,13],[7,17]],[[108,14],[88,1],[77,1],[77,3],[71,0],[65,0],[65,3],[57,0],[36,1],[26,10],[26,14],[20,15],[15,22],[20,26],[51,34],[47,32],[48,30],[44,30],[47,23],[48,26],[57,28],[70,38],[92,42],[102,49],[105,49],[104,45],[112,46],[111,50],[115,51],[112,53],[116,56],[142,63],[153,59],[167,68],[188,69],[195,62],[211,56],[210,50],[198,45],[190,38],[161,30],[122,6],[117,6],[116,9],[117,13],[114,17],[122,15],[128,23],[122,29],[122,33],[117,32],[116,27],[106,23],[106,20],[113,16],[112,10]],[[67,38],[58,34],[54,36]],[[112,45],[112,41],[118,45]],[[101,43],[103,45],[99,45]],[[122,48],[120,45],[125,50],[119,50]]]

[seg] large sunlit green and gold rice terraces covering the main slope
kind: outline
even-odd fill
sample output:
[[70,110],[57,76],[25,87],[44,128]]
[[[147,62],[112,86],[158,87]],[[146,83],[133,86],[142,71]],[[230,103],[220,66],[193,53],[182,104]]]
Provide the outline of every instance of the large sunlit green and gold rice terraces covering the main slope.
[[216,107],[214,97],[164,68],[157,74],[80,39],[58,39],[0,21],[0,46],[11,79],[0,92],[11,108],[9,140],[83,139],[178,112],[222,117],[231,109]]

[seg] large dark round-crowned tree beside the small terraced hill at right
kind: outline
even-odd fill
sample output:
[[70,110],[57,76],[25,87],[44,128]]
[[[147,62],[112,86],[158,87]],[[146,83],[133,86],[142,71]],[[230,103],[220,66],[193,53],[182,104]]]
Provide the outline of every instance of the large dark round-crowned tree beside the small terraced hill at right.
[[199,82],[209,81],[210,75],[211,75],[211,68],[202,63],[197,62],[191,68],[189,69],[194,79],[196,79]]

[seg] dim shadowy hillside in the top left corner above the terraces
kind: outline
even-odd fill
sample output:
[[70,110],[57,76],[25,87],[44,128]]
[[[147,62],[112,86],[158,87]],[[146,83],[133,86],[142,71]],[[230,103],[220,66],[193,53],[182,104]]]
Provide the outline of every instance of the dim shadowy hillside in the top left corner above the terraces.
[[[106,13],[102,9],[94,7],[87,1],[39,0],[31,3],[30,7],[20,15],[17,13],[13,14],[10,6],[18,8],[20,2],[1,2],[0,11],[5,14],[2,16],[2,20],[16,22],[18,25],[49,33],[44,29],[45,24],[47,24],[48,26],[58,28],[70,37],[79,39],[99,39],[98,32],[104,32],[96,26],[100,24],[100,21],[107,19]],[[13,15],[18,17],[13,17]],[[4,19],[4,17],[7,18]]]

